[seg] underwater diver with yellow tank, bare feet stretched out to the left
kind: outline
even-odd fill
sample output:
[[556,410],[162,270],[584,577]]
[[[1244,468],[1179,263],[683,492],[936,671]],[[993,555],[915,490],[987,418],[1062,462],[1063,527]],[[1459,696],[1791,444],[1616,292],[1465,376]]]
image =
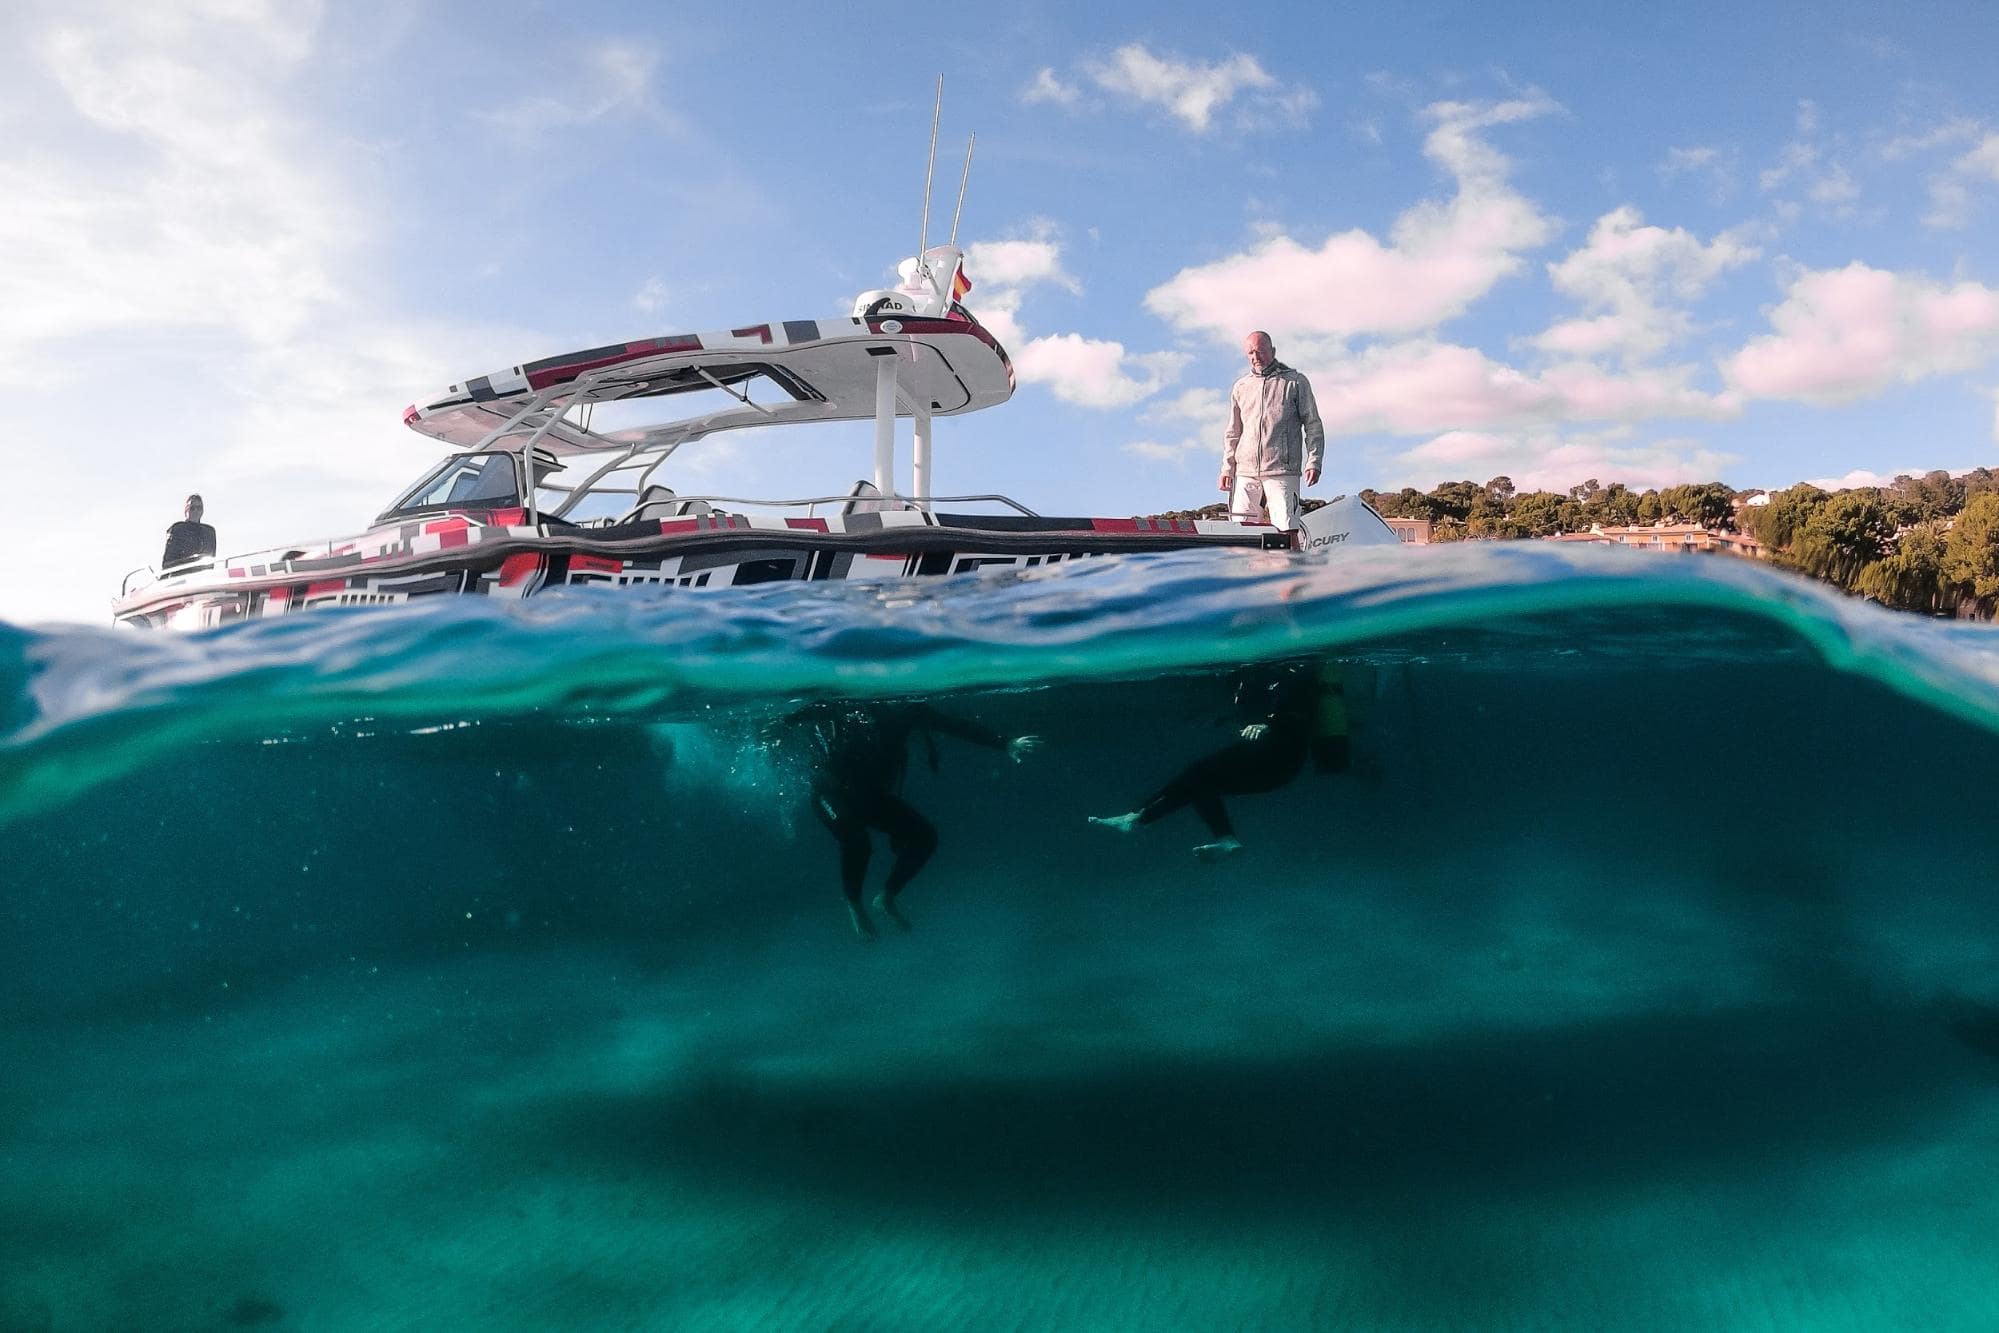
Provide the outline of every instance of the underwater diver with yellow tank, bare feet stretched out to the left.
[[1239,851],[1223,795],[1275,791],[1305,767],[1311,755],[1321,773],[1347,767],[1345,689],[1337,669],[1303,662],[1253,666],[1235,675],[1235,741],[1195,759],[1125,815],[1089,815],[1091,823],[1129,833],[1155,823],[1181,805],[1213,833],[1193,847],[1203,861]]

